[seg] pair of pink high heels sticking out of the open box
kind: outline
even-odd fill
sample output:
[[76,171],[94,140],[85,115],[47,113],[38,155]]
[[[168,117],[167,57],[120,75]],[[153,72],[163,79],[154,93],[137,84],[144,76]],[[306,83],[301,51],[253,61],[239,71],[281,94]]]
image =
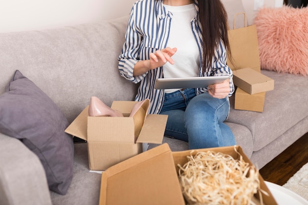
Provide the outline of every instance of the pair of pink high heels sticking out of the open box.
[[[145,99],[143,101],[137,102],[131,112],[129,117],[134,117],[137,115],[138,111],[140,115],[148,114],[150,107],[150,100]],[[123,117],[123,114],[118,110],[113,110],[108,107],[105,103],[103,103],[99,98],[92,96],[89,106],[89,116],[91,117],[98,117],[98,116],[110,116],[110,117]]]

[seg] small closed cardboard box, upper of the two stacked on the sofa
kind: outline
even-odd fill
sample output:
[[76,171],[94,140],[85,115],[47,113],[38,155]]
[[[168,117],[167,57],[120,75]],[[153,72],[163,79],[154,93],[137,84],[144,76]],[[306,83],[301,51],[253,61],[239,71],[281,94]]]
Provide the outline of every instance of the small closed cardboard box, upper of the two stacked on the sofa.
[[233,83],[249,94],[274,89],[274,80],[251,68],[233,71]]

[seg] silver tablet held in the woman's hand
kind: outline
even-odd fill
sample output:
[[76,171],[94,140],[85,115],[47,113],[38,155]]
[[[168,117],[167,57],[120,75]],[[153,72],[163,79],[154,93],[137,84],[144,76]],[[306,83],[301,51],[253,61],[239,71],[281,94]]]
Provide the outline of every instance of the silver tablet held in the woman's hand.
[[189,78],[158,78],[155,82],[155,89],[174,88],[207,88],[209,85],[222,83],[229,76],[208,76]]

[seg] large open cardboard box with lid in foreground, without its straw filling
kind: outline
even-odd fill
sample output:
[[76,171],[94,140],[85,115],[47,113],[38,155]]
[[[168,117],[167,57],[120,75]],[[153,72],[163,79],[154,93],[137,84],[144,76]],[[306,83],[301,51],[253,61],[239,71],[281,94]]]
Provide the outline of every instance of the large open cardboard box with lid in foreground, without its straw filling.
[[[252,165],[240,146],[171,152],[169,146],[163,144],[103,172],[99,205],[185,205],[178,178],[178,164],[183,166],[191,153],[207,150],[229,154],[236,159],[240,153]],[[259,176],[259,180],[261,189],[269,194],[262,194],[263,202],[277,205],[262,176]],[[258,194],[255,194],[254,202],[258,204]]]

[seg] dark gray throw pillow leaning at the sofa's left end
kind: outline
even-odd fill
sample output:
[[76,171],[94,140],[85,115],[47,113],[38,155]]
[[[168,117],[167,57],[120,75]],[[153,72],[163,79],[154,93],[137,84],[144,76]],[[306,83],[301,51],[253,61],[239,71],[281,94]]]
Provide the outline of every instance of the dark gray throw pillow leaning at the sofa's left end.
[[38,156],[49,189],[62,195],[73,177],[74,145],[64,132],[67,126],[59,107],[17,70],[0,95],[0,132],[19,139]]

